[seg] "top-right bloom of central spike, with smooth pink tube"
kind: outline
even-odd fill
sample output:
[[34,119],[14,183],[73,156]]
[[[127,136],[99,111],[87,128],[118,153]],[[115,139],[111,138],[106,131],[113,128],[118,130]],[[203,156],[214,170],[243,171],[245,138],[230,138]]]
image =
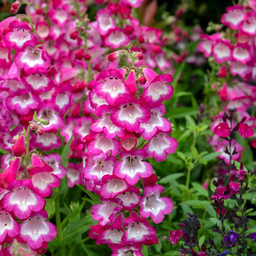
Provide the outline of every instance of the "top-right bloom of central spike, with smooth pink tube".
[[143,98],[152,107],[158,106],[163,100],[169,100],[173,94],[173,87],[166,83],[171,83],[173,77],[170,74],[158,75],[153,70],[143,68],[143,74],[147,83],[143,91]]

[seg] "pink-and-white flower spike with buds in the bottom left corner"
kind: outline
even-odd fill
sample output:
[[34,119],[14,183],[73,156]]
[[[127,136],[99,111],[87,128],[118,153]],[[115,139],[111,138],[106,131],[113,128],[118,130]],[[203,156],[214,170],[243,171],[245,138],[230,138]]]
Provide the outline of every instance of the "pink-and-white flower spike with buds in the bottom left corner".
[[60,179],[39,152],[29,150],[29,130],[40,136],[38,127],[47,124],[47,119],[34,117],[27,132],[13,137],[11,153],[1,156],[0,243],[4,255],[12,255],[16,247],[26,248],[29,254],[43,254],[47,242],[56,237],[55,225],[46,221],[44,197],[51,195]]

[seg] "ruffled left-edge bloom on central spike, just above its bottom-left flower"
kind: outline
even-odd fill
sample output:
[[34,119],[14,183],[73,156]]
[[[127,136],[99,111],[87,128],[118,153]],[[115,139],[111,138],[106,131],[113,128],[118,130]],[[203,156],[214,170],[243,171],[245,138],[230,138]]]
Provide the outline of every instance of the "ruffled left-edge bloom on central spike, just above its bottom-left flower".
[[104,199],[100,197],[102,204],[94,204],[91,207],[91,217],[95,221],[99,221],[100,225],[106,225],[115,219],[116,213],[123,208],[122,200],[120,199]]

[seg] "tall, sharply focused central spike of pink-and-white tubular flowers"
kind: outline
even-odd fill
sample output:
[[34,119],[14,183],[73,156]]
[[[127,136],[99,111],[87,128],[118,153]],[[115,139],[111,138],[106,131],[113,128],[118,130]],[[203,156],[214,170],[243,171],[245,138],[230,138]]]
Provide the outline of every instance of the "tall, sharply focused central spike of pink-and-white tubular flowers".
[[[131,45],[127,48],[121,53],[134,61],[139,54],[131,51]],[[156,230],[147,217],[160,223],[173,209],[170,198],[160,197],[163,187],[155,184],[157,177],[145,161],[145,157],[163,161],[176,150],[177,141],[169,137],[171,124],[162,117],[162,100],[172,96],[173,87],[167,84],[172,80],[169,74],[132,66],[102,71],[91,82],[90,104],[97,119],[85,136],[88,152],[82,176],[86,188],[99,194],[102,204],[91,208],[99,223],[89,235],[97,244],[108,244],[113,255],[131,251],[141,255],[142,244],[157,243]]]

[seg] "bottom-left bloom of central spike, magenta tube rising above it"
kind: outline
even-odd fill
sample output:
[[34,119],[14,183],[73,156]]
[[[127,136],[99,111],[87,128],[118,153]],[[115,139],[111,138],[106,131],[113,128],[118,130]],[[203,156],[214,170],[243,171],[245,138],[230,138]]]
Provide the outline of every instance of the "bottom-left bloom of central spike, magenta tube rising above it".
[[112,225],[104,226],[105,230],[99,234],[97,242],[100,244],[108,244],[112,247],[114,244],[122,244],[122,236],[125,233],[122,225],[124,221],[124,213],[119,213]]

